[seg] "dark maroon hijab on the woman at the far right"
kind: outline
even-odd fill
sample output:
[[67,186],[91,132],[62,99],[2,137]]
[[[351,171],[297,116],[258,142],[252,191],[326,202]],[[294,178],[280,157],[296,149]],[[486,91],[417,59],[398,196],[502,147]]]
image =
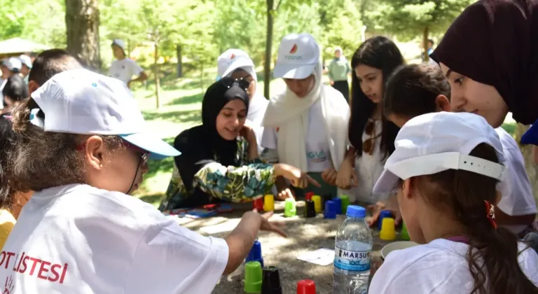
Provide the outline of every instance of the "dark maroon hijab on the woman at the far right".
[[538,118],[538,0],[481,0],[467,7],[431,55],[492,85],[518,123]]

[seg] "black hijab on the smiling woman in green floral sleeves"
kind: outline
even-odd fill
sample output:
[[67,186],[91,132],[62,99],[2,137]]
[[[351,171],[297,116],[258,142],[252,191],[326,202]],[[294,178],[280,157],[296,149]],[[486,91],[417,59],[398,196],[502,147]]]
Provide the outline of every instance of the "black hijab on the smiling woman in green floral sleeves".
[[187,191],[192,191],[194,175],[208,163],[237,166],[237,140],[223,139],[216,130],[216,117],[228,102],[240,99],[249,109],[249,95],[232,78],[222,78],[209,86],[202,101],[202,125],[181,132],[174,147],[181,155],[174,158]]

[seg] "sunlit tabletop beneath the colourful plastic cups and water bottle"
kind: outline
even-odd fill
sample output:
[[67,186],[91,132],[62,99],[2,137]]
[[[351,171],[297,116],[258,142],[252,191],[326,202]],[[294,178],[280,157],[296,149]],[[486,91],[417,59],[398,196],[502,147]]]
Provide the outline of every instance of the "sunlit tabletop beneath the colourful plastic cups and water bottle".
[[[188,219],[178,221],[185,228],[199,232],[202,235],[226,237],[230,230],[239,223],[242,214],[251,209],[252,204],[233,204],[234,211],[210,218]],[[316,283],[317,294],[333,293],[333,265],[320,266],[297,259],[297,256],[315,251],[319,248],[334,249],[334,238],[345,215],[336,219],[325,219],[321,214],[316,218],[303,218],[304,202],[297,202],[297,216],[284,218],[284,202],[275,202],[273,221],[284,221],[284,231],[288,237],[283,238],[275,233],[260,232],[258,241],[265,266],[273,265],[280,269],[282,293],[295,294],[297,282],[311,279]],[[226,230],[226,232],[219,232]],[[379,231],[372,230],[373,250],[371,253],[371,274],[381,265],[380,250],[390,241],[382,241]],[[213,290],[214,294],[237,294],[243,292],[244,264],[232,274],[222,276]]]

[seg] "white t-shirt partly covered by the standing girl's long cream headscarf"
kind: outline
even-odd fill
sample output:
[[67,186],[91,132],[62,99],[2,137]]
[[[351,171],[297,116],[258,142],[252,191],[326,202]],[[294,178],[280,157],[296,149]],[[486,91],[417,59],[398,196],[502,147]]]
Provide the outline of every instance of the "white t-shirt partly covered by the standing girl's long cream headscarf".
[[[278,130],[265,127],[261,146],[277,149]],[[332,167],[329,134],[322,113],[322,102],[318,99],[308,109],[308,130],[305,137],[308,172],[323,172]]]

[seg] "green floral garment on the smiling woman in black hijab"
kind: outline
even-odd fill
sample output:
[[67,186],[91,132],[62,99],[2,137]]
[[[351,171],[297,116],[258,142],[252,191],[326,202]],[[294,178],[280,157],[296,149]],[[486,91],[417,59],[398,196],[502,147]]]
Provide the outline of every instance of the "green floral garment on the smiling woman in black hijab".
[[[248,159],[249,144],[242,137],[237,139],[237,167],[225,167],[214,158],[193,179],[193,190],[198,188],[210,197],[228,202],[249,202],[270,193],[274,185],[273,165],[259,159]],[[159,209],[181,207],[181,203],[193,195],[188,191],[174,162],[174,172],[165,199]]]

